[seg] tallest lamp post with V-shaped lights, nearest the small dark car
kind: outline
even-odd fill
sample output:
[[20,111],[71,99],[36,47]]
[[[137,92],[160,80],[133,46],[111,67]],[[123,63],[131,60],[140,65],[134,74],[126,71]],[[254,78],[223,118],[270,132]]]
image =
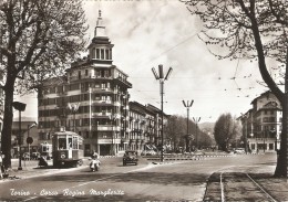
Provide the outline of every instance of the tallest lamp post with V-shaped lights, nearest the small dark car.
[[161,148],[161,161],[162,161],[162,162],[164,161],[164,153],[163,153],[163,149],[164,149],[164,148],[163,148],[163,139],[164,139],[164,137],[163,137],[163,118],[164,118],[164,115],[163,115],[163,95],[164,95],[164,82],[168,79],[168,77],[169,77],[169,75],[171,75],[171,73],[172,73],[172,70],[173,70],[173,68],[169,67],[167,74],[166,74],[165,77],[164,77],[163,65],[162,65],[162,64],[158,65],[158,74],[157,74],[157,72],[155,71],[154,67],[152,68],[152,72],[153,72],[155,78],[160,81],[161,116],[162,116],[162,120],[161,120],[161,126],[162,126],[162,127],[161,127],[161,128],[162,128],[162,129],[161,129],[161,138],[162,138],[162,140],[161,140],[161,145],[162,145],[162,148]]

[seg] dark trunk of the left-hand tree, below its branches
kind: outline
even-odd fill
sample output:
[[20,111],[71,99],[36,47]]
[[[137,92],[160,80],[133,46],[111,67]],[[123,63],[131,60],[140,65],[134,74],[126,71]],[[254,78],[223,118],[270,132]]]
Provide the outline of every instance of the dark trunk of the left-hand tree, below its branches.
[[4,117],[3,128],[1,136],[1,150],[4,155],[3,166],[11,168],[11,134],[12,134],[12,121],[13,121],[13,93],[14,93],[14,79],[8,78],[4,87]]

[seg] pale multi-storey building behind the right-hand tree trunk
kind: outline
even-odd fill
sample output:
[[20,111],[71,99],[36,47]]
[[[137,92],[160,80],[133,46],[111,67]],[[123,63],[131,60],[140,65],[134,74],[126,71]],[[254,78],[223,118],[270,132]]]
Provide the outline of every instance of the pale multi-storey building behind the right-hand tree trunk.
[[243,135],[249,149],[275,151],[280,148],[282,107],[271,92],[265,92],[251,102],[253,108],[241,118]]

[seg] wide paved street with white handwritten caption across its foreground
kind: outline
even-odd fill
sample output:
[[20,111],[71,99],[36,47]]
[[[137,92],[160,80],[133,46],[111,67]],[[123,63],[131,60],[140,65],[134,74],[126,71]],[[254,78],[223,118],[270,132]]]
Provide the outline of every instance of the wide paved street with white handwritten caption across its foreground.
[[[200,160],[122,166],[121,158],[101,159],[101,170],[88,166],[0,183],[1,201],[203,201],[207,179],[216,172],[275,168],[275,155],[232,155]],[[37,170],[37,169],[35,169]]]

